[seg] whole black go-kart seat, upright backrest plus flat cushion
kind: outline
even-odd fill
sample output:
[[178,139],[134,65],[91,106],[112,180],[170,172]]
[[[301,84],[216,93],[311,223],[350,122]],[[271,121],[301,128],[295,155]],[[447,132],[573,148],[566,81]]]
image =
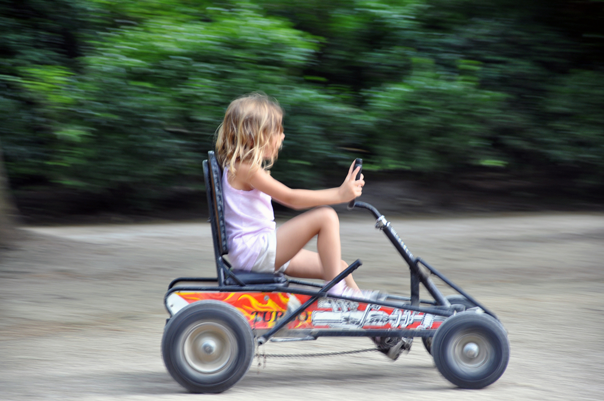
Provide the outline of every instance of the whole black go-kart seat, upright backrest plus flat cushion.
[[204,160],[205,191],[208,196],[208,211],[214,240],[214,257],[220,286],[248,286],[271,284],[278,287],[288,286],[288,280],[282,273],[256,273],[231,269],[223,256],[228,254],[226,245],[226,228],[224,220],[224,200],[222,195],[222,168],[216,155],[210,150],[208,159]]

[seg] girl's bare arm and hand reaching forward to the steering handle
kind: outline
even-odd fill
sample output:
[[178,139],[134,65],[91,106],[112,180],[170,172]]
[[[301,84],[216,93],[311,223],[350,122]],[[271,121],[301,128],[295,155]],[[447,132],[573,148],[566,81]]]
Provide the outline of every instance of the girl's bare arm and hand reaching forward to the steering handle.
[[253,173],[249,173],[249,166],[240,164],[237,168],[237,176],[239,178],[249,177],[245,181],[253,188],[269,194],[272,199],[282,205],[292,209],[307,209],[321,205],[335,205],[349,202],[356,197],[361,196],[361,191],[365,181],[361,175],[361,179],[355,180],[356,173],[361,167],[353,171],[355,163],[350,165],[348,175],[344,179],[342,185],[338,188],[329,188],[326,190],[300,190],[292,189],[287,185],[272,178],[262,168]]

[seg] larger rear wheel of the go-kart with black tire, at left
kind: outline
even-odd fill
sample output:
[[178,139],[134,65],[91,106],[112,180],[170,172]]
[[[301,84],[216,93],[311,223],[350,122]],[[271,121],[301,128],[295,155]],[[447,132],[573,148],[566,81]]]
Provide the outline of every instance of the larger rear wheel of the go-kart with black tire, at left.
[[254,336],[239,310],[220,301],[199,301],[179,310],[164,329],[165,367],[191,393],[220,393],[248,372]]

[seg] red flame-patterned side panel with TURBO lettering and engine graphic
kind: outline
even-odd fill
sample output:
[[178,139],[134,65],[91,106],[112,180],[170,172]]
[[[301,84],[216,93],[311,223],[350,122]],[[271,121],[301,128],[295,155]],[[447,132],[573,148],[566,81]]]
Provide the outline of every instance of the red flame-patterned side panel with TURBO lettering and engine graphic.
[[[178,301],[175,302],[175,298]],[[170,299],[172,298],[172,300]],[[309,300],[309,295],[285,292],[175,292],[167,300],[172,313],[187,304],[217,300],[233,305],[255,329],[271,329],[279,319]],[[184,301],[184,302],[182,302]],[[175,305],[181,305],[175,307]],[[320,298],[301,312],[288,329],[437,329],[443,316],[376,304]]]

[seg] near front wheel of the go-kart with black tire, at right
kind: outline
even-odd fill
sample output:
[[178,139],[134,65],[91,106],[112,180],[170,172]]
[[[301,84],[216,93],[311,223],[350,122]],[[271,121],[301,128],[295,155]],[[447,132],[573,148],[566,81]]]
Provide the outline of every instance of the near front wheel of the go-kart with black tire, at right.
[[483,388],[506,371],[510,343],[500,322],[471,310],[443,322],[432,341],[432,356],[449,382],[461,388]]

